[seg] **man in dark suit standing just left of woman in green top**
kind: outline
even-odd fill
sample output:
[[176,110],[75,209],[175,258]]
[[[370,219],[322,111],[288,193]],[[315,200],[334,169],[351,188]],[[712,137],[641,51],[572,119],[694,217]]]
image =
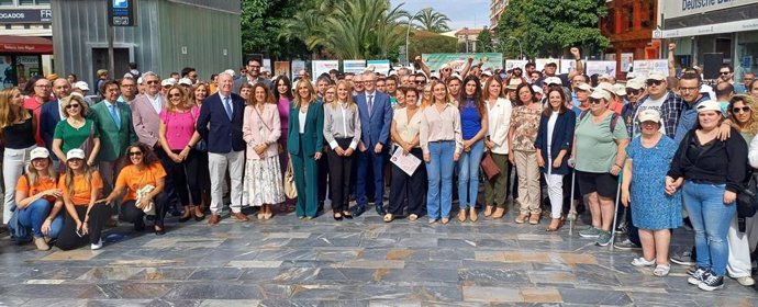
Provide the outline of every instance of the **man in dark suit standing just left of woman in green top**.
[[[51,100],[43,104],[42,110],[40,110],[40,136],[42,136],[42,140],[45,143],[45,148],[51,152],[53,152],[52,146],[55,126],[58,125],[60,120],[64,120],[64,117],[60,116],[63,112],[60,112],[59,101],[69,94],[71,94],[71,84],[68,80],[64,78],[56,79],[55,82],[53,82],[53,95],[55,95],[55,100]],[[51,155],[51,158],[53,158],[53,163],[57,169],[58,157]]]

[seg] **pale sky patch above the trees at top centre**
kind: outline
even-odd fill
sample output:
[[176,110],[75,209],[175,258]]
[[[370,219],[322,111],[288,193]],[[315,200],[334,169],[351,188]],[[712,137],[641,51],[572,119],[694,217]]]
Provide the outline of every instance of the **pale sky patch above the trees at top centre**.
[[414,14],[424,8],[433,8],[435,11],[446,14],[452,22],[450,29],[481,29],[490,25],[490,0],[390,0],[392,5],[405,3],[403,9]]

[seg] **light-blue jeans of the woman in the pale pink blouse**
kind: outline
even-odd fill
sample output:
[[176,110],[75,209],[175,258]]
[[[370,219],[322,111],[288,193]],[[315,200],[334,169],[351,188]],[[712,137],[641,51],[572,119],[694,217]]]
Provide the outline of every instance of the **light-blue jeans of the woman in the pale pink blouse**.
[[426,213],[430,218],[450,217],[453,206],[453,156],[455,141],[431,141],[428,144],[431,160],[426,162],[428,192],[426,193]]

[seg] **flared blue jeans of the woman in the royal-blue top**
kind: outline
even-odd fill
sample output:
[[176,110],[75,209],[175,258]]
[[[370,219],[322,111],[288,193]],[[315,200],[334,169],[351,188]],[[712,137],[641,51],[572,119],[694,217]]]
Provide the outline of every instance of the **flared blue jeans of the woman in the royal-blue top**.
[[480,139],[471,144],[471,150],[461,152],[458,159],[458,204],[461,209],[477,205],[482,154],[484,154],[484,140]]

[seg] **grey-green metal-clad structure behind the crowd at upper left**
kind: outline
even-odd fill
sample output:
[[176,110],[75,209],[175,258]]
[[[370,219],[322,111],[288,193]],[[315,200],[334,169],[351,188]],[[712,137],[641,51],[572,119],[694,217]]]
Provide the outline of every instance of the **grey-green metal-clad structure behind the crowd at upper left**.
[[[110,77],[122,78],[132,61],[140,71],[161,78],[193,67],[201,80],[242,65],[238,0],[129,2],[136,5],[136,25],[113,27],[115,67]],[[108,1],[53,0],[52,10],[60,16],[53,20],[56,72],[76,73],[92,84],[94,72],[108,69],[110,61]]]

